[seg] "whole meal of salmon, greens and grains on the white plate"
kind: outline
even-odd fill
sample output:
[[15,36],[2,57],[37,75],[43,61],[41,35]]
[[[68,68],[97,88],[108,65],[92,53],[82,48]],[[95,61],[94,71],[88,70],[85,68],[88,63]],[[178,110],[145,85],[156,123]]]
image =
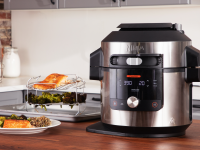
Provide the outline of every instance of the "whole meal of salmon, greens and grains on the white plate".
[[10,117],[0,116],[0,126],[3,128],[33,128],[47,127],[51,125],[51,120],[45,116],[27,118],[24,115],[12,114]]

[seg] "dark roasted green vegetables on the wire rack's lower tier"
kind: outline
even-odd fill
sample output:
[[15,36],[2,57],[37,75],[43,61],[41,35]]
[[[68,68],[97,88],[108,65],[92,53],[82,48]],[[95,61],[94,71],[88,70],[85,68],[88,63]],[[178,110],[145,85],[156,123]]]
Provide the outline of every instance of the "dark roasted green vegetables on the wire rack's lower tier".
[[[85,103],[87,94],[77,94],[78,102],[79,103]],[[47,103],[60,103],[63,102],[65,104],[70,104],[70,106],[73,106],[74,103],[76,103],[76,93],[75,92],[65,92],[63,94],[51,94],[49,92],[42,92],[42,95],[35,95],[32,93],[25,96],[25,100],[28,101],[29,104],[47,104]],[[45,107],[46,108],[46,107]]]

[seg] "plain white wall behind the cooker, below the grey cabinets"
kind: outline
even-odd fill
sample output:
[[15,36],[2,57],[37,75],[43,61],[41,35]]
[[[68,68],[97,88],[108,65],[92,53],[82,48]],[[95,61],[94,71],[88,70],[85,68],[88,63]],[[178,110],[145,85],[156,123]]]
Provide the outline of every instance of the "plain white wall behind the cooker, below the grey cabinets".
[[[76,73],[89,78],[89,54],[120,23],[181,23],[200,49],[200,6],[12,11],[21,75]],[[152,35],[153,36],[153,35]]]

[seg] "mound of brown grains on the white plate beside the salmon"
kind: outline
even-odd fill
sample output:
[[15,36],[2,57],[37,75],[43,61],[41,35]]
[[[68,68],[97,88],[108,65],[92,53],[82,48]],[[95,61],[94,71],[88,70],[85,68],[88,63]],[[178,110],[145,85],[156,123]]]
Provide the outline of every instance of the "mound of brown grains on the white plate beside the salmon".
[[31,125],[33,125],[35,127],[46,127],[51,124],[50,119],[45,116],[31,117],[30,119],[31,119],[31,121],[30,121]]

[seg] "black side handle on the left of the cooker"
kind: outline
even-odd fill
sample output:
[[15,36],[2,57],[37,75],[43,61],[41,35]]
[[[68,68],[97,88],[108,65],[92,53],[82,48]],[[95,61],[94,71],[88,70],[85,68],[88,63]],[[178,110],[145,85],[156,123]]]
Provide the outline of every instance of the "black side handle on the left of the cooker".
[[90,80],[103,79],[103,51],[101,48],[90,54]]

